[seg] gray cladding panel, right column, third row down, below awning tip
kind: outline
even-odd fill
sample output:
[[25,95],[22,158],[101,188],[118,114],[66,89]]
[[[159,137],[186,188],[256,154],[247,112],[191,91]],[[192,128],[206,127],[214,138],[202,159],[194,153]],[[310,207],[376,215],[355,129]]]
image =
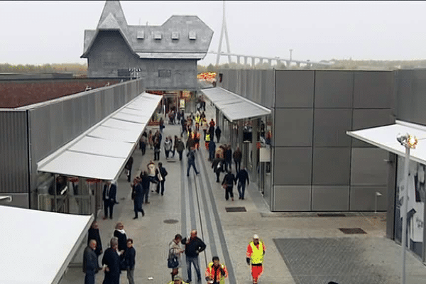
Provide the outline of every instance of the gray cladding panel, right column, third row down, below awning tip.
[[388,152],[381,148],[352,148],[351,185],[386,185]]

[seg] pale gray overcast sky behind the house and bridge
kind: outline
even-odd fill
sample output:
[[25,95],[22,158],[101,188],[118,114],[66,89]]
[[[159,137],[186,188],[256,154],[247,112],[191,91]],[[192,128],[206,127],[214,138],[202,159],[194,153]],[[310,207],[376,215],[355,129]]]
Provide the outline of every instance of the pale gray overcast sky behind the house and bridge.
[[[214,31],[222,1],[121,1],[130,25],[161,25],[196,15]],[[425,1],[226,1],[232,53],[293,59],[425,59]],[[0,1],[0,63],[86,62],[84,29],[95,29],[104,1]],[[224,47],[222,47],[224,50]],[[221,62],[225,62],[225,58]],[[215,62],[207,55],[199,63]]]

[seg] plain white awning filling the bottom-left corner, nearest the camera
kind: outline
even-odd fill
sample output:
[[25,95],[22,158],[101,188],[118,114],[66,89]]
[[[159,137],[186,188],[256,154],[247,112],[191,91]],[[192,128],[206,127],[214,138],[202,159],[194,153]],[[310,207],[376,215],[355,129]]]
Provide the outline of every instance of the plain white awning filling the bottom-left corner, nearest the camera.
[[94,217],[0,206],[0,283],[59,283]]

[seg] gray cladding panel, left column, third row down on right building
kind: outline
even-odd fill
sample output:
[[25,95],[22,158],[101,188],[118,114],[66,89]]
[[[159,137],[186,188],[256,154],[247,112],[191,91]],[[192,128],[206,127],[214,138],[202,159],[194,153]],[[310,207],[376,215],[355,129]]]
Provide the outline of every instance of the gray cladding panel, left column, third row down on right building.
[[310,185],[312,148],[275,147],[275,185]]

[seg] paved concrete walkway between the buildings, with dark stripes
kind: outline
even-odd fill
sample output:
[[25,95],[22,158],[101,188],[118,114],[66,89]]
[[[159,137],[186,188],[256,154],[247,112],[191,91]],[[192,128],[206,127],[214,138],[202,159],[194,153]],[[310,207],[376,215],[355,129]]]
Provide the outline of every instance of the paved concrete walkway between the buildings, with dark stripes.
[[[207,104],[208,121],[213,117],[212,114],[214,109]],[[180,135],[180,126],[166,124],[163,141],[165,136],[173,137],[174,135]],[[114,207],[114,219],[98,220],[104,250],[107,249],[116,222],[122,222],[127,236],[134,240],[136,283],[168,283],[171,271],[166,265],[168,244],[175,234],[188,236],[191,229],[197,229],[198,236],[207,244],[205,252],[200,253],[202,283],[205,283],[204,270],[212,256],[219,256],[221,262],[227,266],[229,278],[226,283],[252,283],[249,266],[246,264],[246,246],[253,234],[258,234],[266,244],[265,272],[261,276],[260,283],[327,284],[332,280],[344,281],[339,284],[361,283],[356,279],[356,273],[353,271],[350,274],[351,279],[343,277],[349,275],[353,267],[361,267],[351,265],[351,261],[368,261],[373,264],[373,268],[368,271],[359,271],[361,274],[377,276],[368,278],[373,279],[373,282],[368,284],[384,283],[376,279],[391,279],[388,283],[395,281],[398,283],[400,246],[384,237],[385,214],[351,213],[346,214],[346,217],[318,217],[313,213],[272,213],[269,212],[263,197],[253,183],[246,190],[245,200],[235,198],[234,202],[225,201],[224,189],[220,183],[215,182],[215,175],[207,161],[208,153],[203,146],[204,141],[201,142],[202,147],[195,159],[200,175],[195,175],[191,170],[190,177],[186,176],[185,155],[182,161],[179,161],[178,153],[175,158],[166,160],[162,148],[160,161],[168,170],[165,195],[150,192],[151,203],[143,204],[145,217],[139,216],[138,219],[133,219],[131,188],[123,174],[118,180],[117,195],[120,203]],[[141,152],[136,150],[133,153],[133,159],[132,175],[134,176],[146,169],[146,165],[153,159],[153,150],[148,147],[146,155],[141,155]],[[221,178],[223,176],[222,174]],[[234,196],[238,196],[235,187]],[[246,212],[226,212],[226,207],[244,207]],[[344,234],[339,228],[361,228],[366,231],[366,234]],[[353,241],[344,241],[348,238]],[[342,244],[342,241],[344,244],[354,244],[356,248],[359,248],[362,243],[364,253],[351,255],[352,251],[355,253],[359,250],[347,249],[346,246],[345,248],[342,246],[340,250],[336,246]],[[289,249],[289,244],[293,249]],[[319,250],[321,253],[314,250],[315,255],[310,255],[312,251],[306,250],[308,244],[324,249]],[[341,266],[339,273],[334,273],[333,268],[329,267],[322,269],[325,263],[330,263],[330,259],[336,256],[336,252],[343,249],[347,265]],[[342,258],[342,255],[340,257]],[[81,251],[80,255],[77,254],[75,262],[78,262],[78,258],[82,258]],[[186,279],[185,258],[182,260],[184,264],[180,268],[180,275]],[[424,283],[426,268],[421,261],[412,253],[408,253],[407,263],[407,283]],[[303,273],[304,268],[306,275]],[[344,271],[345,269],[347,271]],[[193,268],[192,273],[194,274],[192,283],[197,283]],[[104,273],[99,273],[97,283],[102,283],[103,278]],[[61,283],[84,283],[81,266],[70,266]],[[121,283],[128,283],[125,271],[121,273]]]

